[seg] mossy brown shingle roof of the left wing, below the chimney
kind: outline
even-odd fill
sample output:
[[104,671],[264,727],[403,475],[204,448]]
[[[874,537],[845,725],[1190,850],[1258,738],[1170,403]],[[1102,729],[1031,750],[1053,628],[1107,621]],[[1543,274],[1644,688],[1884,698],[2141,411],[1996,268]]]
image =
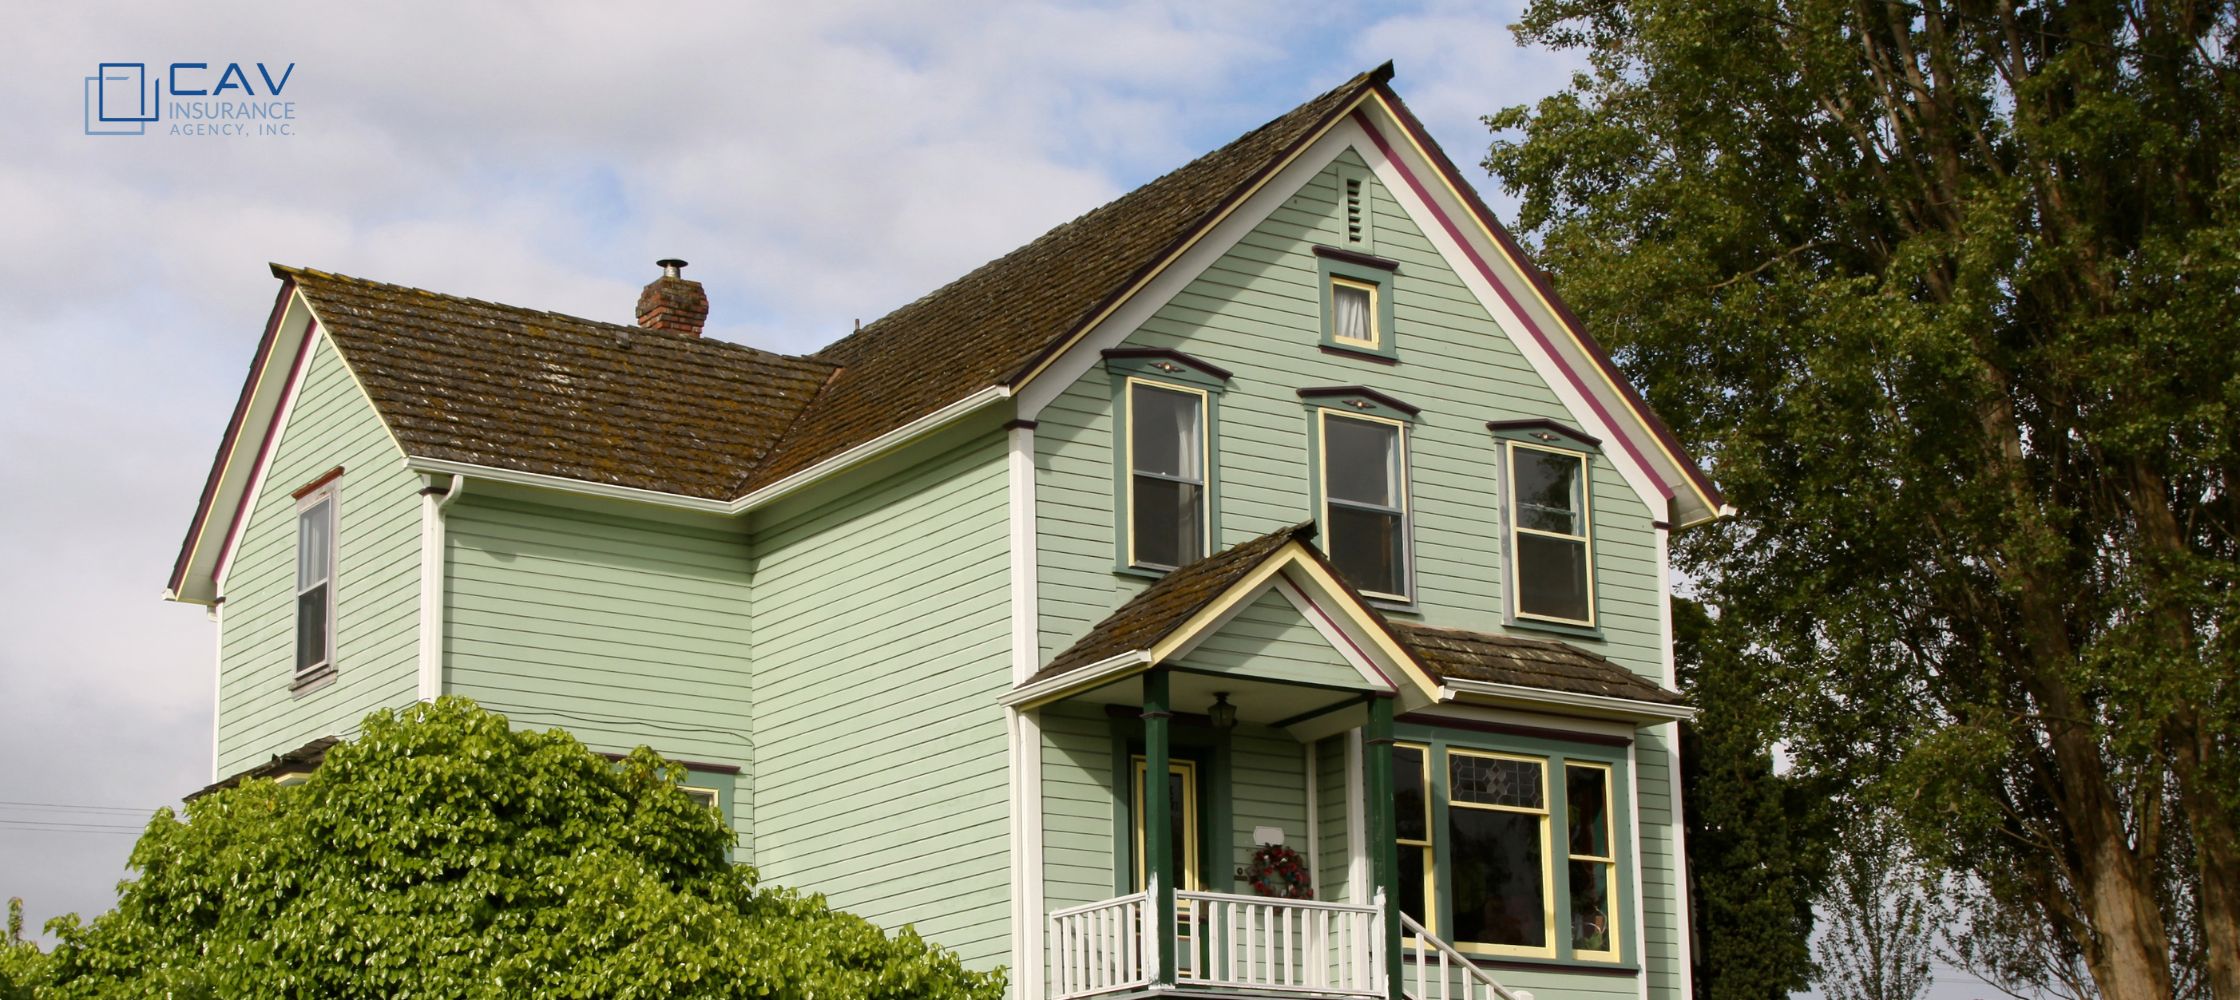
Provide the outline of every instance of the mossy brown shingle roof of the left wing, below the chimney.
[[833,365],[273,267],[412,457],[730,500]]

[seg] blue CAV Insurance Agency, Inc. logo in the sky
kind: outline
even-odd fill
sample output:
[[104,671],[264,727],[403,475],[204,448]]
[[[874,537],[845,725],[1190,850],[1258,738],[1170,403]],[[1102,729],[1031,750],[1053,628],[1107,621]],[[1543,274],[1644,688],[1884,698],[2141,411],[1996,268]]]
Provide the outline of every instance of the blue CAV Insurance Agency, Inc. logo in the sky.
[[296,101],[280,99],[296,63],[278,76],[267,63],[251,67],[101,63],[85,78],[85,135],[148,135],[148,126],[188,137],[296,135]]

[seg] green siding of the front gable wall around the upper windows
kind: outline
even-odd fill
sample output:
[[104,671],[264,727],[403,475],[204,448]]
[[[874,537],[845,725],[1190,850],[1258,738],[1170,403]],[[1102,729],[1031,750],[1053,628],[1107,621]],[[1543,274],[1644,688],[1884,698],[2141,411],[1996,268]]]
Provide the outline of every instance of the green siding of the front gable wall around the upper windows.
[[[1183,350],[1236,372],[1212,428],[1219,437],[1219,547],[1313,516],[1308,410],[1299,404],[1299,388],[1371,386],[1420,406],[1409,437],[1416,603],[1391,614],[1503,632],[1505,570],[1494,496],[1501,451],[1485,422],[1541,417],[1572,424],[1572,417],[1373,175],[1366,177],[1375,217],[1375,244],[1369,249],[1400,262],[1391,280],[1398,363],[1317,348],[1322,309],[1313,247],[1342,244],[1337,175],[1360,166],[1353,152],[1342,155],[1163,305],[1127,345]],[[1037,415],[1044,657],[1147,585],[1111,567],[1111,377],[1102,368],[1086,372]],[[1595,460],[1590,475],[1599,637],[1564,639],[1660,677],[1662,592],[1651,529],[1658,513],[1617,475],[1608,455]],[[1662,751],[1662,738],[1644,733],[1637,796],[1642,892],[1649,904],[1642,944],[1655,966],[1655,996],[1669,998],[1678,993],[1680,915]],[[1328,854],[1331,841],[1324,843]],[[1624,989],[1631,991],[1633,982]]]

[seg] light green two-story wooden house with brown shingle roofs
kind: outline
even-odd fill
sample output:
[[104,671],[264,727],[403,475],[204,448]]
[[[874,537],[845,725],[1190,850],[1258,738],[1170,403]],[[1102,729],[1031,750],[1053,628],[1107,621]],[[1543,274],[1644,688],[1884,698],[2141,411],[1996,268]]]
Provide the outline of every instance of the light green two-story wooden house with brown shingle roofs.
[[[1355,76],[804,357],[276,267],[215,780],[470,695],[1015,996],[1689,996],[1709,478]],[[1147,794],[1149,791],[1149,794]]]

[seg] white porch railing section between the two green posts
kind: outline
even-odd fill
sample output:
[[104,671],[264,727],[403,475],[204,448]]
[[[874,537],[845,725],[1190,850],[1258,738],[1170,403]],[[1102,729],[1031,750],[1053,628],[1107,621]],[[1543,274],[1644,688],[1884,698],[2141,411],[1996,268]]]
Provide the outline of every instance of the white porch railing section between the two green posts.
[[1384,933],[1375,904],[1176,892],[1196,939],[1178,982],[1297,991],[1315,996],[1384,996]]

